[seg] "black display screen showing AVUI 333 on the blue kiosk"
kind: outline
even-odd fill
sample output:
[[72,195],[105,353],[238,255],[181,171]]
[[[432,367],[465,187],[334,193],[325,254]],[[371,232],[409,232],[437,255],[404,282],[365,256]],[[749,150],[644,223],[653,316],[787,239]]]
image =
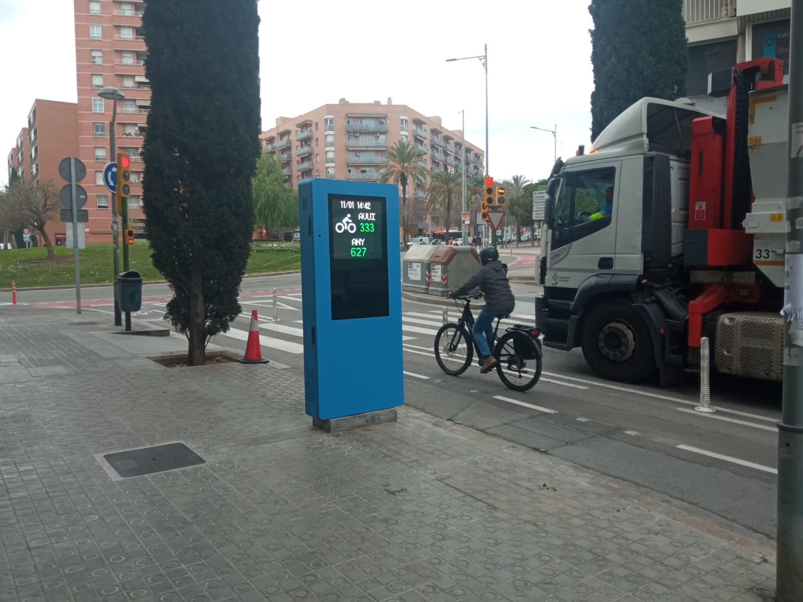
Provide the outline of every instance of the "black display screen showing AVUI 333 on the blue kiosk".
[[389,315],[384,197],[329,195],[332,319]]

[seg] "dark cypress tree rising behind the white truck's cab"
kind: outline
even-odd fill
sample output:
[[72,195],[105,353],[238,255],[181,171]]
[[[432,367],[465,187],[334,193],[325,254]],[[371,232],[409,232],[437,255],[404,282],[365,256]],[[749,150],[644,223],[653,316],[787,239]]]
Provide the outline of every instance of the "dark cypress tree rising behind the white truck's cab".
[[683,96],[688,53],[683,0],[591,0],[591,139],[644,96]]

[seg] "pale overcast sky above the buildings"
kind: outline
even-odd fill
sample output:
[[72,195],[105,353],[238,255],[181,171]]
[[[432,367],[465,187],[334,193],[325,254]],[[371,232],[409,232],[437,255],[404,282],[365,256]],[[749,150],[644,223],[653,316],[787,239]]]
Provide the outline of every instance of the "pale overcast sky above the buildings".
[[[548,2],[377,2],[261,0],[259,54],[263,127],[341,97],[388,97],[485,144],[485,89],[479,60],[488,45],[491,175],[547,177],[557,154],[589,145],[592,26],[589,0]],[[303,8],[301,8],[303,6]],[[0,183],[6,157],[36,98],[75,102],[71,0],[0,0]]]

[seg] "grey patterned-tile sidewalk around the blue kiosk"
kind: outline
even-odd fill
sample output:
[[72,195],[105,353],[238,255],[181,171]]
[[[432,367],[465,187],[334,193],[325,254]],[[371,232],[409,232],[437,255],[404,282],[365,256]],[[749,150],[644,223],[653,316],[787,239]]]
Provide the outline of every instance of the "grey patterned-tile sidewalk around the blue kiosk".
[[[772,550],[622,483],[411,408],[328,435],[300,371],[161,368],[108,323],[0,307],[0,600],[772,597]],[[176,441],[206,463],[104,466]]]

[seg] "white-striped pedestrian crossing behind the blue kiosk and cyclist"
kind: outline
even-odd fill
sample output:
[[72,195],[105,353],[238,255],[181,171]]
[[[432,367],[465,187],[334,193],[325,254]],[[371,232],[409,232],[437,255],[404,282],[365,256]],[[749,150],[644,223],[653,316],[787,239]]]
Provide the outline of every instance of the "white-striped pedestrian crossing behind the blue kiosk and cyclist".
[[[282,299],[279,302],[278,299]],[[240,300],[243,306],[242,313],[230,325],[230,330],[226,333],[214,336],[210,342],[222,347],[240,348],[248,340],[248,328],[251,323],[251,311],[257,310],[259,315],[259,343],[263,347],[263,355],[284,362],[290,365],[300,364],[300,358],[304,353],[304,320],[300,319],[300,309],[302,299],[300,294],[277,295],[276,315],[278,321],[274,322],[273,317],[273,297],[272,295],[252,296],[247,300]],[[143,309],[145,309],[145,303]],[[149,305],[149,304],[148,304]],[[413,306],[415,307],[415,306]],[[157,307],[153,309],[157,313]],[[161,313],[162,307],[158,308]],[[148,313],[146,310],[145,313]],[[448,308],[446,320],[455,322],[459,319],[459,309],[456,307]],[[533,325],[534,316],[517,313],[510,318],[503,319],[499,326],[499,332],[510,327],[515,323]],[[402,344],[404,350],[410,354],[431,355],[434,348],[434,338],[438,334],[438,328],[443,324],[443,308],[433,308],[431,310],[418,309],[416,311],[402,311]],[[296,360],[293,360],[293,357]]]

